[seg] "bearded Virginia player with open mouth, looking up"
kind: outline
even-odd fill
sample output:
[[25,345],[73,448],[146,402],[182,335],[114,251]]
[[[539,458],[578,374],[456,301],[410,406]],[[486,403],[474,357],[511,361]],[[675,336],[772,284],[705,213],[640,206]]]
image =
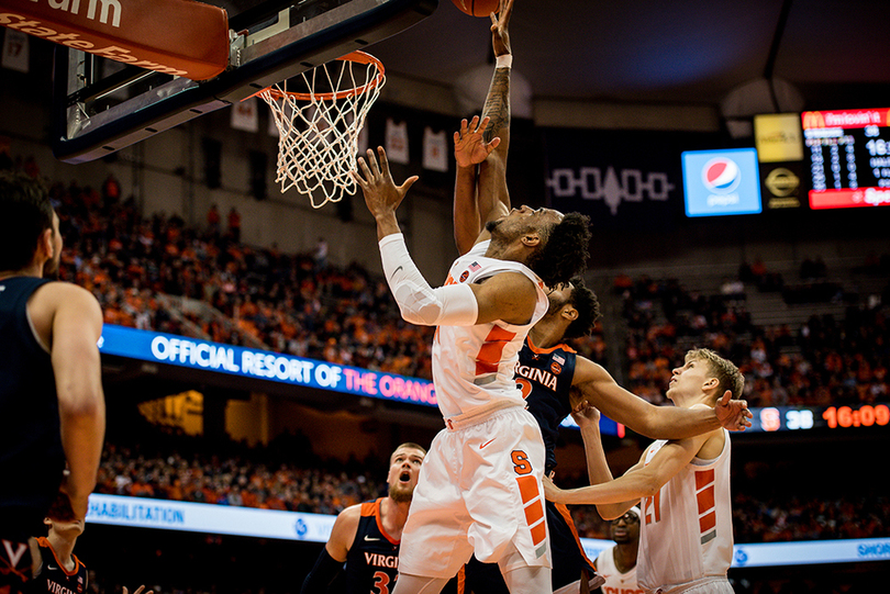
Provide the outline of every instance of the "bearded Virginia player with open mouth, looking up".
[[340,513],[301,594],[327,592],[341,572],[342,592],[392,592],[399,574],[402,528],[424,456],[426,450],[416,444],[396,448],[387,474],[389,494]]

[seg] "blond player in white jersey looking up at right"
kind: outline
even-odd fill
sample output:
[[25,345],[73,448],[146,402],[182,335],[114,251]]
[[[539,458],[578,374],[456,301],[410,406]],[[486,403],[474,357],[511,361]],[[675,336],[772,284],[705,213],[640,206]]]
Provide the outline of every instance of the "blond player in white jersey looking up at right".
[[[685,408],[713,407],[731,390],[738,397],[744,377],[708,349],[687,352],[674,370],[667,396]],[[590,444],[585,442],[586,448]],[[605,456],[588,455],[591,486],[563,491],[547,482],[547,498],[597,505],[605,519],[641,503],[637,583],[646,592],[733,592],[726,572],[733,557],[730,496],[730,434],[720,428],[679,440],[658,440],[623,477],[611,480]]]

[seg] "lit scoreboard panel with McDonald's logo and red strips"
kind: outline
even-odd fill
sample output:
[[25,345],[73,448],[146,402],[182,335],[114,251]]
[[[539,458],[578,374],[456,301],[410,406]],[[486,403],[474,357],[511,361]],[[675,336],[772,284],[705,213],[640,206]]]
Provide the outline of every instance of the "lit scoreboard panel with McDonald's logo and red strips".
[[890,204],[890,110],[808,111],[810,208]]

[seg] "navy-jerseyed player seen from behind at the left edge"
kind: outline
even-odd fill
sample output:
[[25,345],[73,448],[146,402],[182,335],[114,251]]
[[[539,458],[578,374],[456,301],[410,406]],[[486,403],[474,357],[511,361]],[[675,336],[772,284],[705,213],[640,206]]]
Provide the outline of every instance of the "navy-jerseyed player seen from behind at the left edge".
[[44,278],[60,256],[46,191],[0,172],[0,592],[12,594],[60,487],[73,517],[58,519],[86,517],[104,437],[102,312],[89,291]]

